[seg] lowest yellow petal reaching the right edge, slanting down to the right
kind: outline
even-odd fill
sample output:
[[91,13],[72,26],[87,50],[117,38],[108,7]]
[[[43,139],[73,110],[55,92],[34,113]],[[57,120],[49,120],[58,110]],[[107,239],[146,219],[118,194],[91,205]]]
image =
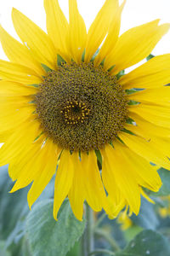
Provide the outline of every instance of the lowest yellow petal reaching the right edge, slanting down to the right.
[[155,143],[124,132],[121,133],[119,137],[122,139],[122,142],[136,154],[139,154],[141,157],[154,164],[170,169],[170,161],[162,154],[161,148],[156,147]]

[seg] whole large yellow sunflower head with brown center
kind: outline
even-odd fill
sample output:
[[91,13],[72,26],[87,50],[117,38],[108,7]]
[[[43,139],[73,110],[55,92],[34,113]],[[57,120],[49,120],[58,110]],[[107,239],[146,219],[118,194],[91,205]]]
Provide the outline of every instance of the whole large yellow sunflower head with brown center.
[[88,32],[76,0],[69,23],[58,0],[44,0],[48,34],[13,9],[22,44],[0,27],[0,165],[11,192],[31,183],[29,207],[56,175],[54,218],[67,196],[80,220],[84,201],[111,217],[138,214],[143,188],[161,187],[156,169],[170,168],[170,55],[122,75],[170,26],[153,20],[119,36],[124,4],[106,0]]

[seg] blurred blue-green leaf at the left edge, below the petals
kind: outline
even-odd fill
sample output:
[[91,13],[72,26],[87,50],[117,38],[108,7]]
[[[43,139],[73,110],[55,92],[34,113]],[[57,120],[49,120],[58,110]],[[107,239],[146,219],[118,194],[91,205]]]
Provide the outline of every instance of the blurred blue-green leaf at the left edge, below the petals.
[[13,183],[8,177],[7,166],[1,168],[0,171],[0,239],[6,240],[8,238],[9,245],[13,238],[15,241],[20,240],[21,226],[27,212],[29,212],[26,199],[28,188],[9,194],[8,191],[12,189]]

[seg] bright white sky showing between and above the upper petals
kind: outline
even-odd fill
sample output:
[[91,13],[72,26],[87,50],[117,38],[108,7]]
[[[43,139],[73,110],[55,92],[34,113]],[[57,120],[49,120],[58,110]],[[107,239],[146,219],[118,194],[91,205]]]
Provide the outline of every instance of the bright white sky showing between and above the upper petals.
[[[120,0],[121,2],[122,0]],[[77,0],[77,3],[86,26],[89,28],[105,0]],[[68,18],[68,0],[59,0],[59,4]],[[0,0],[0,23],[14,38],[19,39],[14,32],[11,20],[13,7],[19,9],[46,31],[43,0]],[[161,23],[170,23],[170,0],[127,0],[122,13],[121,33],[133,26],[139,26],[155,19],[161,19]],[[165,53],[170,53],[170,32],[161,39],[161,42],[152,51],[154,55]],[[7,60],[1,46],[0,59]]]

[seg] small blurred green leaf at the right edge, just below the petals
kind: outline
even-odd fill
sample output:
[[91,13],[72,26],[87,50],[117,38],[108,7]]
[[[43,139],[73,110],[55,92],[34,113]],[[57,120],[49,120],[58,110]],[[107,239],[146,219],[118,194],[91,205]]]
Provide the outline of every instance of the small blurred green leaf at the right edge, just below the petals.
[[161,177],[161,189],[158,192],[149,192],[149,195],[153,196],[164,196],[164,195],[170,195],[170,171],[160,168],[158,170],[158,173]]

